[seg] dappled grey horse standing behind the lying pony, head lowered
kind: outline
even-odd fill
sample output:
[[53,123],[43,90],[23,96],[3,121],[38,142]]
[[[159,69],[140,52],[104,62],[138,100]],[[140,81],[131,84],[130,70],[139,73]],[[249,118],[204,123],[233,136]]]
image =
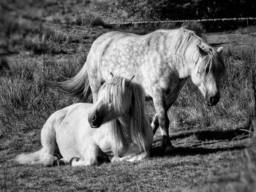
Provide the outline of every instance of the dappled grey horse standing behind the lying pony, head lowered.
[[187,77],[199,88],[210,106],[219,101],[219,86],[225,65],[219,52],[187,28],[158,30],[146,35],[113,31],[91,45],[86,64],[71,79],[52,82],[62,92],[86,101],[92,92],[97,101],[99,88],[115,76],[131,78],[142,85],[154,101],[157,114],[151,125],[162,130],[162,150],[172,146],[167,110],[178,97]]

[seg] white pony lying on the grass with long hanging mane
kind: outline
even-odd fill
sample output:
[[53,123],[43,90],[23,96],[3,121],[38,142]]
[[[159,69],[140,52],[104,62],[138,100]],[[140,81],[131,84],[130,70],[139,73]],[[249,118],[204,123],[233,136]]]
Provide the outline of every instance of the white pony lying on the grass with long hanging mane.
[[140,161],[148,157],[153,131],[144,111],[140,85],[113,77],[99,91],[95,104],[72,104],[54,112],[41,131],[42,149],[20,154],[20,164],[53,166],[56,156],[72,166],[110,161]]

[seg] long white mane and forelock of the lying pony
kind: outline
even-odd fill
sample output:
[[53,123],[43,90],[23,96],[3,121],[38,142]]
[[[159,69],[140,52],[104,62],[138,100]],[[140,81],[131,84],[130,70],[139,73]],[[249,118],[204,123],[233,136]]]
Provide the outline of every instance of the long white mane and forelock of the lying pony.
[[[127,82],[126,82],[127,81]],[[111,82],[103,85],[104,93],[102,95],[103,102],[108,107],[109,104],[113,104],[113,107],[116,111],[122,112],[121,102],[124,96],[125,83],[129,83],[130,88],[132,89],[132,103],[130,107],[131,121],[129,127],[126,127],[127,131],[122,131],[121,126],[124,125],[123,122],[118,119],[112,120],[110,123],[111,126],[111,142],[112,150],[114,155],[120,155],[119,151],[124,145],[126,145],[127,139],[132,139],[132,142],[138,145],[140,151],[145,151],[146,145],[146,115],[144,111],[144,91],[135,82],[128,82],[128,80],[122,77],[113,77]]]

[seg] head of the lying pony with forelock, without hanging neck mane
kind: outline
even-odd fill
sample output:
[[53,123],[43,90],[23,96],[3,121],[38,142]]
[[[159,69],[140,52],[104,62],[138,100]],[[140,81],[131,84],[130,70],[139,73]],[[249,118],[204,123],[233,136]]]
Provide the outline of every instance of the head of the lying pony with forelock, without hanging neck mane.
[[89,112],[91,128],[98,128],[102,123],[127,115],[132,102],[130,81],[122,77],[113,77],[99,89],[98,100]]

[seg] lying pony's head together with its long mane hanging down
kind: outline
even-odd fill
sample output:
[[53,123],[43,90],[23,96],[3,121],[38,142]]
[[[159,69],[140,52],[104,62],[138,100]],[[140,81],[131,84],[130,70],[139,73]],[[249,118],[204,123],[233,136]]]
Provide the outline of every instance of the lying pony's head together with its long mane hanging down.
[[88,116],[91,128],[97,128],[111,120],[114,155],[118,155],[124,144],[125,136],[121,132],[121,126],[129,129],[129,137],[140,151],[146,151],[146,146],[151,145],[150,141],[146,141],[145,130],[151,129],[151,126],[144,110],[145,94],[143,88],[131,80],[113,77],[110,82],[105,82],[99,89],[98,100]]

